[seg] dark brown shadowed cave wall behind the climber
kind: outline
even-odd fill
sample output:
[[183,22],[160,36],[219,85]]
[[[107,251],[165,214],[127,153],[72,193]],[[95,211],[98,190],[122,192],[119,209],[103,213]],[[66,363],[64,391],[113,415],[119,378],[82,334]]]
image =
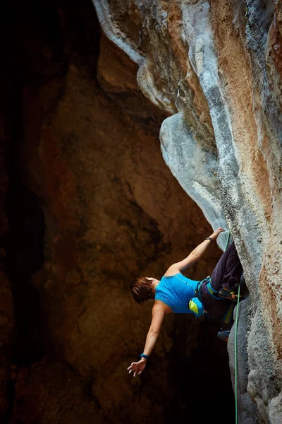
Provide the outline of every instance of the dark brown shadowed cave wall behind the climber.
[[[161,278],[212,232],[161,155],[159,129],[171,112],[142,93],[136,62],[104,33],[100,40],[90,1],[17,6],[21,136],[13,171],[23,192],[10,206],[8,245],[25,264],[11,261],[13,279],[23,270],[26,278],[14,286],[22,325],[10,423],[205,420],[212,396],[209,408],[190,411],[202,379],[211,393],[211,382],[223,390],[225,422],[234,401],[226,345],[216,338],[221,322],[167,317],[147,372],[126,372],[144,347],[152,307],[135,305],[129,282]],[[29,224],[15,223],[23,199]],[[26,244],[28,230],[41,244]],[[220,254],[214,246],[189,276],[212,273]]]

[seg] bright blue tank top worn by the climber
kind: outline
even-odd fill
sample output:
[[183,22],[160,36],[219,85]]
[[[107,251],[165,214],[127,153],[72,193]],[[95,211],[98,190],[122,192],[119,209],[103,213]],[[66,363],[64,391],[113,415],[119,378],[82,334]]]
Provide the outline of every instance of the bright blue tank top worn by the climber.
[[168,305],[175,314],[192,314],[188,302],[195,298],[198,282],[183,276],[183,273],[161,277],[154,298]]

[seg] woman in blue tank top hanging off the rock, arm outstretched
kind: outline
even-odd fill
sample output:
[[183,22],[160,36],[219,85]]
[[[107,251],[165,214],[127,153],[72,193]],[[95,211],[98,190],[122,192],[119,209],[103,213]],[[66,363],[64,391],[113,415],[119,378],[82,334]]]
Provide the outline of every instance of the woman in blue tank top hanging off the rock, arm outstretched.
[[[154,299],[152,322],[146,338],[144,352],[140,360],[128,367],[133,376],[140,375],[145,370],[147,359],[152,353],[159,336],[164,315],[195,314],[196,317],[206,315],[211,319],[224,317],[232,302],[237,302],[234,291],[236,283],[240,283],[243,268],[235,249],[234,242],[221,255],[211,277],[203,281],[190,280],[181,273],[195,264],[223,232],[219,227],[198,245],[183,261],[172,264],[161,277],[161,281],[152,277],[139,277],[130,283],[134,300],[141,304]],[[221,301],[219,301],[221,300]]]

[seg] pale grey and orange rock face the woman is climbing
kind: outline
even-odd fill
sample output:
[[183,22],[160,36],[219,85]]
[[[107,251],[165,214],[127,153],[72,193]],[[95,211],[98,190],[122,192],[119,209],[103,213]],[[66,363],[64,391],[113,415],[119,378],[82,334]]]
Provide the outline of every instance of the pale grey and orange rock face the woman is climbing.
[[[235,240],[250,293],[247,309],[239,308],[247,338],[238,347],[239,422],[279,423],[281,1],[94,6],[106,37],[137,66],[137,86],[169,115],[160,140],[171,172],[212,227],[226,225]],[[99,75],[107,89],[111,75]]]

